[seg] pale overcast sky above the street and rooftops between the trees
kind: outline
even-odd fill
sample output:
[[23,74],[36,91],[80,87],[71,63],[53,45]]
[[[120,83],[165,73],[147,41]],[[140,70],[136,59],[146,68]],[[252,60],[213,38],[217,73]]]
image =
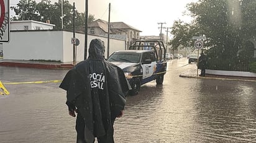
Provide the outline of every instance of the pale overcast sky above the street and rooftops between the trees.
[[[40,2],[40,0],[36,0]],[[57,0],[52,0],[56,2]],[[174,20],[190,21],[190,17],[184,17],[186,4],[197,0],[88,0],[88,13],[94,15],[95,19],[108,20],[109,3],[111,3],[111,22],[124,22],[142,31],[140,35],[158,35],[160,24],[163,27],[171,27]],[[10,0],[11,6],[19,0]],[[85,1],[70,0],[75,2],[76,9],[85,11]],[[162,30],[165,32],[165,30]]]

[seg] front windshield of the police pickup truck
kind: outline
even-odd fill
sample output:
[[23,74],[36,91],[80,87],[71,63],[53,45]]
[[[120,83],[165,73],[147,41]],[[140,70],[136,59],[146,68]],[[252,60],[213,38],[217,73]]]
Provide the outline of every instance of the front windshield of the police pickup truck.
[[126,63],[139,63],[140,54],[139,53],[114,53],[112,54],[107,61],[119,61]]

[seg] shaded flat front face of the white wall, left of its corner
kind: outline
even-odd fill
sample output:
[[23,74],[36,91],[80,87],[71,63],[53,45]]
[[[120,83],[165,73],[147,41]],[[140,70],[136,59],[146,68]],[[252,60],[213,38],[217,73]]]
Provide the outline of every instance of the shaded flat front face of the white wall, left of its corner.
[[62,32],[11,32],[9,43],[3,43],[4,59],[62,60]]

